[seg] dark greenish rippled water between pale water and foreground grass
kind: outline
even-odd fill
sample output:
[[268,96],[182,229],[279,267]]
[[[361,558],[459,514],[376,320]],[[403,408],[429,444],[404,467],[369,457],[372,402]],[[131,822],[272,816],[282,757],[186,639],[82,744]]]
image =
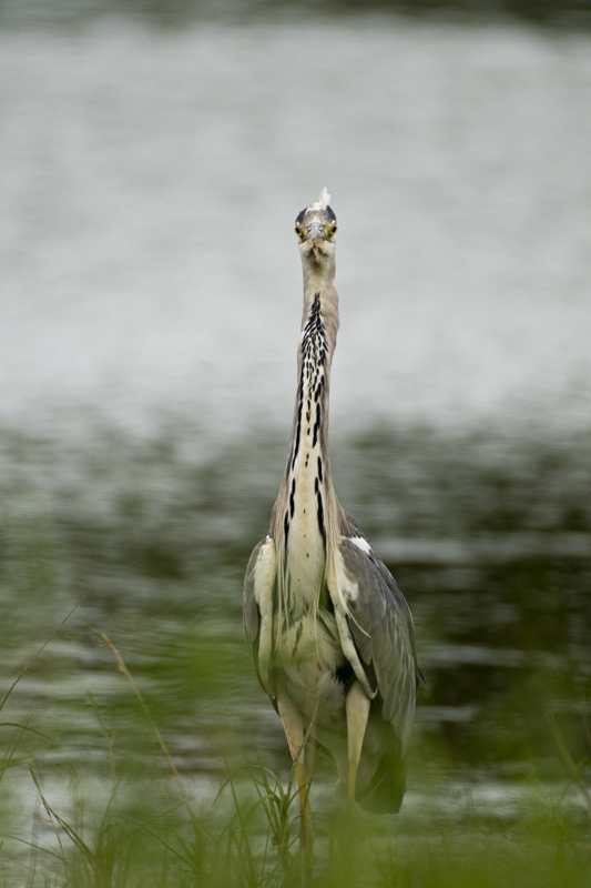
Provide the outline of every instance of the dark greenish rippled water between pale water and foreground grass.
[[[29,715],[51,737],[27,740],[48,766],[102,760],[105,730],[131,773],[155,754],[82,617],[120,649],[185,773],[217,773],[236,749],[271,763],[283,755],[247,660],[241,595],[285,442],[261,433],[197,461],[195,434],[171,426],[140,441],[102,430],[77,446],[1,438],[4,676],[83,598],[10,703],[11,720]],[[417,773],[438,763],[491,778],[532,768],[561,777],[549,714],[575,760],[590,751],[590,456],[587,435],[492,430],[379,427],[335,444],[339,497],[415,615],[429,685]]]

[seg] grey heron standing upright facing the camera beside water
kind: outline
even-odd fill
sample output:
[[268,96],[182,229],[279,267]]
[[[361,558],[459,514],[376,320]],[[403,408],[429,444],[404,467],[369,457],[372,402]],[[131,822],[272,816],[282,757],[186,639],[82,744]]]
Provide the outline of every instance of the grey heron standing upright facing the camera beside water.
[[246,638],[296,763],[308,833],[308,738],[334,756],[349,806],[399,810],[422,679],[405,597],[333,487],[328,389],[338,295],[329,200],[323,189],[295,222],[304,313],[292,437],[269,533],[251,555],[244,585]]

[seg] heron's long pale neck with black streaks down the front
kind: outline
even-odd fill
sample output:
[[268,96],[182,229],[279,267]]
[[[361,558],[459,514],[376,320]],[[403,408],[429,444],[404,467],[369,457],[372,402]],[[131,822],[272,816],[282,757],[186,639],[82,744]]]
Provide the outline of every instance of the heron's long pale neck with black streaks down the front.
[[[304,312],[297,395],[283,483],[271,521],[279,561],[302,587],[322,583],[327,538],[340,509],[330,476],[328,396],[338,330],[335,264],[303,258]],[[294,567],[294,565],[296,565]],[[296,576],[297,575],[297,576]],[[300,579],[298,579],[298,577]],[[319,578],[318,578],[319,577]],[[309,594],[315,594],[309,589]]]

